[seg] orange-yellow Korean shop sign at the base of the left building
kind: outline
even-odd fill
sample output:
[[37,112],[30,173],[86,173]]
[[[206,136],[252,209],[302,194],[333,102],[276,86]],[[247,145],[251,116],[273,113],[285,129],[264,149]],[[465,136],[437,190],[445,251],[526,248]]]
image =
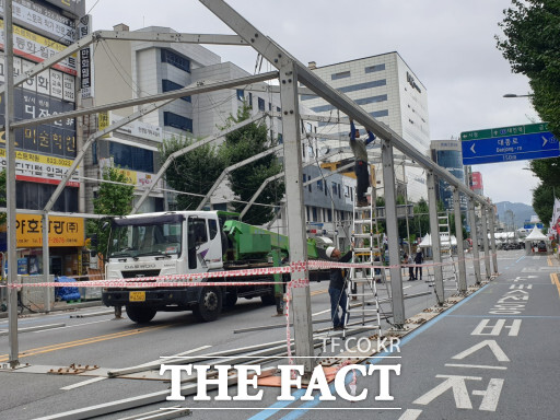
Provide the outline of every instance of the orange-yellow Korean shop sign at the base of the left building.
[[[43,218],[38,214],[16,214],[16,240],[19,248],[43,246]],[[49,217],[49,246],[84,246],[84,221],[80,218]]]

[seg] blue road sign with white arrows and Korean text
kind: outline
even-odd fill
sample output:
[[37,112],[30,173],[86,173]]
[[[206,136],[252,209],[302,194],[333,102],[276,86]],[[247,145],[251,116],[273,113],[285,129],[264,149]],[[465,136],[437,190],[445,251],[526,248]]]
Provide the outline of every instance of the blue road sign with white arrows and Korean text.
[[[492,129],[462,133],[463,164],[477,165],[560,156],[558,139],[550,131],[530,132],[535,131],[534,126],[525,126],[530,127],[530,130],[524,130],[524,126],[516,127],[516,132]],[[478,133],[481,138],[477,136]]]

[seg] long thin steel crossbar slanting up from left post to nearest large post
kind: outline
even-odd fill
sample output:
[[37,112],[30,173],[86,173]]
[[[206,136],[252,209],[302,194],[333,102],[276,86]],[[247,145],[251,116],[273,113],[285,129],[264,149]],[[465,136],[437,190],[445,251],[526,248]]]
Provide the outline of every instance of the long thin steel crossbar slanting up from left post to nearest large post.
[[264,82],[265,80],[270,80],[270,79],[276,79],[276,78],[278,78],[278,72],[269,71],[267,73],[261,73],[261,74],[257,74],[257,75],[247,75],[244,78],[226,80],[226,81],[214,81],[214,80],[199,81],[199,82],[197,82],[196,86],[187,86],[187,88],[179,89],[177,91],[160,93],[158,95],[137,97],[133,100],[116,102],[116,103],[107,104],[107,105],[92,106],[91,108],[71,110],[68,113],[51,115],[51,116],[43,117],[43,118],[25,119],[23,121],[18,121],[16,124],[14,122],[13,127],[14,128],[25,128],[25,127],[30,127],[30,126],[36,126],[39,124],[52,122],[52,121],[56,121],[56,120],[59,120],[62,118],[77,118],[77,117],[81,117],[83,115],[104,113],[106,110],[112,110],[112,109],[120,109],[120,108],[127,108],[127,107],[131,107],[131,106],[145,105],[145,104],[155,103],[155,102],[160,102],[160,101],[177,100],[183,96],[197,95],[200,93],[213,92],[213,91],[219,91],[222,89],[233,89],[233,88],[237,88],[237,86],[244,86],[247,83]]

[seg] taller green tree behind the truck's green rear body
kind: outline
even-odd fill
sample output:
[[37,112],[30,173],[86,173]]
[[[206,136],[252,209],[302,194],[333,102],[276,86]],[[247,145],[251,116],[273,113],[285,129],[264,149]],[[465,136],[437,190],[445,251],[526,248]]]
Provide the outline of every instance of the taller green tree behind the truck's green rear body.
[[[250,117],[250,108],[244,104],[237,110],[237,116],[230,116],[226,120],[226,129],[235,124],[246,120]],[[255,154],[268,150],[273,144],[267,137],[268,128],[265,122],[249,124],[225,136],[225,142],[220,148],[220,155],[233,165]],[[235,196],[241,201],[248,201],[255,191],[260,187],[265,179],[277,175],[282,171],[282,166],[275,154],[260,158],[258,161],[238,167],[229,174],[230,186]],[[269,183],[262,192],[257,197],[257,202],[265,205],[277,205],[284,195],[284,184],[282,180]],[[233,203],[236,211],[242,211],[244,202]],[[244,221],[249,224],[264,224],[275,215],[272,207],[252,206],[244,217]]]

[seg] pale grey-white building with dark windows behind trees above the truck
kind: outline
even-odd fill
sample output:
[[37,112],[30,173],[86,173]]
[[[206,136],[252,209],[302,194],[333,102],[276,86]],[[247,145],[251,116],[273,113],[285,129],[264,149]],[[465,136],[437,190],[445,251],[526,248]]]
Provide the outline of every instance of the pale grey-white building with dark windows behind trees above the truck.
[[[115,31],[128,30],[125,24],[115,26]],[[168,27],[153,26],[137,32],[175,33]],[[232,62],[222,62],[218,55],[196,44],[107,40],[102,48],[96,49],[94,65],[95,105],[175,91],[205,80],[223,81],[249,75]],[[107,82],[109,80],[110,83]],[[266,91],[267,85],[261,85]],[[205,138],[215,135],[217,127],[225,126],[230,115],[236,115],[244,102],[252,106],[253,113],[280,109],[278,95],[245,92],[241,89],[182,97],[141,118],[138,124],[150,128],[142,131],[149,136],[131,136],[131,130],[125,129],[97,141],[93,154],[86,161],[89,176],[97,177],[102,166],[100,162],[109,162],[110,159],[112,164],[128,170],[141,187],[159,171],[158,147],[163,139],[173,136]],[[127,117],[139,108],[114,110],[110,119]],[[278,120],[268,119],[267,122],[271,136],[281,139]],[[92,129],[97,127],[94,124]],[[155,130],[160,130],[156,136]],[[95,188],[96,183],[92,183],[91,187]],[[139,190],[138,195],[140,192]],[[173,196],[167,198],[173,200]],[[221,187],[212,197],[211,206],[224,209],[228,200],[232,198],[229,189]],[[162,192],[154,191],[141,211],[162,210],[165,206]],[[90,211],[93,208],[91,200],[88,208]]]

